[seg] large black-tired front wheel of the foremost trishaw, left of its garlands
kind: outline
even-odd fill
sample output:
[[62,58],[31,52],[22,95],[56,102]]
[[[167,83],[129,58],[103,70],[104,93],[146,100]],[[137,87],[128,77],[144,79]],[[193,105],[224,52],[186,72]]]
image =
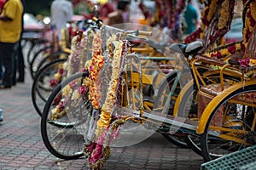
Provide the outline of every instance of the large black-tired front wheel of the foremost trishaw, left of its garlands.
[[[84,155],[83,128],[91,114],[88,92],[73,100],[71,96],[74,93],[69,93],[68,89],[72,83],[75,92],[75,89],[82,87],[85,77],[88,77],[88,72],[75,74],[58,84],[44,106],[42,138],[49,152],[61,159],[77,159]],[[56,110],[61,111],[57,116],[54,114]]]

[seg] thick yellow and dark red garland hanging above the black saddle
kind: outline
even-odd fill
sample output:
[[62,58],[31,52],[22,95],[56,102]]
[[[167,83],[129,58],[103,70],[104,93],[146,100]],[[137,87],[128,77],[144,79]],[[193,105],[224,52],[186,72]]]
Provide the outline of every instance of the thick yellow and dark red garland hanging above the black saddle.
[[230,30],[234,8],[235,0],[210,1],[202,11],[201,26],[186,37],[184,42],[188,43],[196,39],[202,39],[206,49],[216,42],[221,42],[221,38]]

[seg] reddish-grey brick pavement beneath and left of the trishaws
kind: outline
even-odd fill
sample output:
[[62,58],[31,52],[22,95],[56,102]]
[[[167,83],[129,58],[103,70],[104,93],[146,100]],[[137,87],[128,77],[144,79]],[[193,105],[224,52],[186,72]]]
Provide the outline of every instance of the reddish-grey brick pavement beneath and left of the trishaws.
[[[28,75],[28,73],[26,74]],[[44,147],[40,117],[31,100],[31,77],[14,88],[0,91],[0,169],[87,169],[84,159],[65,161]],[[103,169],[200,169],[203,162],[192,150],[181,149],[159,133],[140,144],[113,148]]]

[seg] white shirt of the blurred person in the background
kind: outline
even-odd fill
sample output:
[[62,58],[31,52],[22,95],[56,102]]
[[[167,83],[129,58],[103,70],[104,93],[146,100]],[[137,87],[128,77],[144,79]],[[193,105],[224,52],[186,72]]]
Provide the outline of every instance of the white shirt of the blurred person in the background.
[[58,30],[61,37],[61,29],[64,28],[68,21],[72,21],[73,3],[67,0],[55,0],[50,6],[51,25]]

